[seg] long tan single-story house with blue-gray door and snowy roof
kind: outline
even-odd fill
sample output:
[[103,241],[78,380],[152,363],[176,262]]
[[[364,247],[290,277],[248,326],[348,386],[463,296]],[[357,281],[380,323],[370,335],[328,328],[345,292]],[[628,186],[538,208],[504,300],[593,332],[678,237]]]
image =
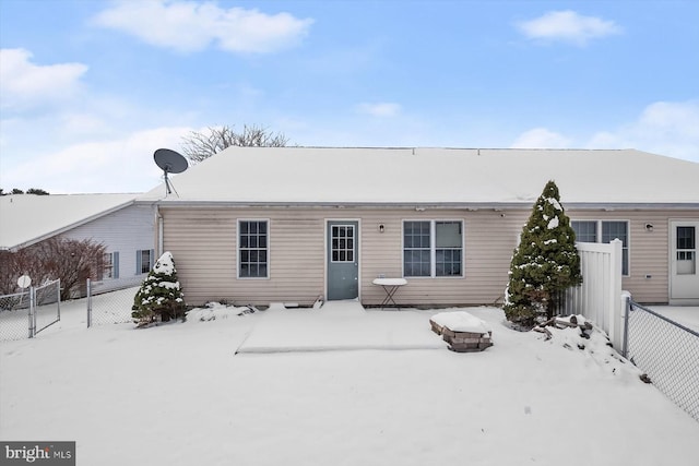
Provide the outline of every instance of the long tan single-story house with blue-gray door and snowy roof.
[[230,147],[155,203],[189,304],[500,302],[548,180],[583,241],[624,242],[640,302],[699,303],[699,164],[633,150]]

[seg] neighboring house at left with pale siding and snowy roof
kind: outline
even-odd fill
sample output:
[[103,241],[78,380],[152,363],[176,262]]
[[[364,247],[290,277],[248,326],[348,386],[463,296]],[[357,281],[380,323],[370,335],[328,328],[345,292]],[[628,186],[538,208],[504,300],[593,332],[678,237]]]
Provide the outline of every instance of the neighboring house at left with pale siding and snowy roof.
[[106,247],[96,291],[138,285],[154,263],[153,207],[137,194],[11,194],[0,196],[0,250],[17,251],[51,237]]

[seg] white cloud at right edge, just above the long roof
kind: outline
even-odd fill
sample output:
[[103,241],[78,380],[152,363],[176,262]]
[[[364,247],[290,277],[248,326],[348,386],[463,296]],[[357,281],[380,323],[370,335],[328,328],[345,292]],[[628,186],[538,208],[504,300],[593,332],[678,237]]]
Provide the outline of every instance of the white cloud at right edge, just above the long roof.
[[594,134],[589,146],[638,148],[699,162],[699,100],[651,104],[636,121]]

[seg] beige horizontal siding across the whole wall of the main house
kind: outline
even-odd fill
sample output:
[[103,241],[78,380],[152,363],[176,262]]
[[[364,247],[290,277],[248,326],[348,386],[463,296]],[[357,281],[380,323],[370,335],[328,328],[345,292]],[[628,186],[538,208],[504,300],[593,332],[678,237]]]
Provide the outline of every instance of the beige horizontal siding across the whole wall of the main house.
[[[697,212],[567,211],[572,219],[628,220],[630,268],[624,288],[642,302],[667,302],[670,218],[696,218]],[[325,292],[325,223],[359,220],[359,299],[378,304],[379,275],[401,277],[402,222],[464,222],[463,277],[408,278],[395,296],[412,306],[501,302],[519,234],[530,210],[414,208],[240,208],[161,207],[164,249],[173,252],[189,304],[227,300],[237,304],[274,301],[311,304]],[[237,220],[270,220],[269,278],[237,277]],[[645,224],[653,224],[647,231]],[[379,224],[384,225],[383,232]],[[649,277],[647,277],[649,276]]]

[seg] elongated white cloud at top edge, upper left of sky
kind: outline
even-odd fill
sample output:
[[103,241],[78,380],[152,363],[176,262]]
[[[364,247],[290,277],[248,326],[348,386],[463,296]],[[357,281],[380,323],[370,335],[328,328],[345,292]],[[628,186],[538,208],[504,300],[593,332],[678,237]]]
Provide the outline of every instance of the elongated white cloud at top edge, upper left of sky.
[[181,52],[203,50],[211,43],[232,52],[272,52],[297,44],[312,22],[288,13],[168,0],[122,1],[94,19],[98,26]]

